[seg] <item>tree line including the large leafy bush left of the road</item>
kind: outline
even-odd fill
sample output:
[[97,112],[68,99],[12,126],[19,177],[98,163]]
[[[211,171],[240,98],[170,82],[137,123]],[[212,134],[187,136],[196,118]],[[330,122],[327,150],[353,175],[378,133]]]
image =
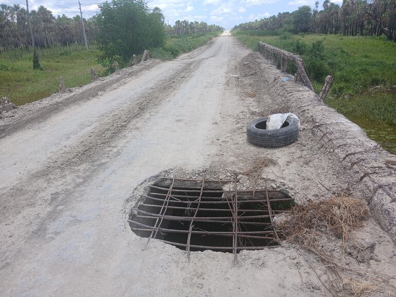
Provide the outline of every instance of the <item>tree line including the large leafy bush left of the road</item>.
[[[32,42],[26,9],[19,4],[12,6],[1,4],[0,8],[0,49],[20,48],[29,50]],[[99,9],[98,14],[83,18],[88,42],[97,41],[97,39],[100,39],[102,43],[105,43],[106,39],[114,40],[109,28],[115,30],[113,31],[114,36],[122,35],[120,32],[123,28],[116,25],[120,21],[118,20],[119,15],[117,16],[116,13],[129,10],[131,15],[123,18],[121,22],[124,22],[124,28],[129,28],[135,32],[133,42],[130,42],[131,48],[135,52],[148,45],[160,44],[163,41],[164,36],[162,35],[164,34],[184,35],[223,30],[222,27],[217,25],[208,25],[205,22],[189,22],[187,20],[176,21],[174,26],[167,25],[159,8],[151,10],[144,1],[140,0],[135,2],[132,0],[104,2],[99,6]],[[84,44],[80,15],[67,17],[63,14],[55,17],[50,10],[40,6],[37,10],[30,11],[30,17],[35,45],[38,48],[43,49],[53,45],[67,46],[75,43]],[[107,25],[109,28],[107,28]],[[100,30],[100,28],[103,30]],[[143,33],[143,30],[145,30],[144,34],[149,31],[152,33],[156,31],[153,34],[157,34],[157,36],[141,35],[140,33]],[[140,36],[138,43],[136,43],[137,31],[139,31],[138,35]],[[158,33],[159,31],[161,33]],[[106,35],[107,32],[110,33]],[[150,41],[153,38],[159,39],[157,42]]]

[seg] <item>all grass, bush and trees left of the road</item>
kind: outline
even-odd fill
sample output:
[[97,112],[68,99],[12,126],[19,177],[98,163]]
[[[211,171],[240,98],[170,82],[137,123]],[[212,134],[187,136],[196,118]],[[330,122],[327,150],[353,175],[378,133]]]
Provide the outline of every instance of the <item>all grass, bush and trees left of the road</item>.
[[57,92],[60,76],[66,88],[91,82],[91,67],[99,76],[114,72],[114,62],[127,67],[145,49],[152,58],[171,60],[204,45],[223,28],[205,22],[165,24],[159,8],[144,1],[104,2],[100,12],[84,18],[88,50],[82,39],[81,18],[53,16],[44,6],[31,10],[33,36],[40,66],[33,70],[33,49],[27,11],[20,5],[0,6],[0,97],[16,105]]

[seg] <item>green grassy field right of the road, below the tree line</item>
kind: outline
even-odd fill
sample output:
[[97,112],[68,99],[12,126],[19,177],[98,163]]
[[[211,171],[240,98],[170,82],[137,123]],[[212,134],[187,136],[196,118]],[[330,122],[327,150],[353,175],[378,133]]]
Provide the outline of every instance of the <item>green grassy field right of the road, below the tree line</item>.
[[[361,125],[372,139],[396,143],[395,43],[371,36],[290,33],[272,36],[265,31],[252,36],[250,31],[246,32],[233,34],[253,50],[258,50],[258,41],[262,41],[299,54],[316,92],[320,92],[326,76],[335,71],[326,103]],[[312,45],[318,41],[323,51],[315,55]],[[396,146],[384,147],[396,153]]]

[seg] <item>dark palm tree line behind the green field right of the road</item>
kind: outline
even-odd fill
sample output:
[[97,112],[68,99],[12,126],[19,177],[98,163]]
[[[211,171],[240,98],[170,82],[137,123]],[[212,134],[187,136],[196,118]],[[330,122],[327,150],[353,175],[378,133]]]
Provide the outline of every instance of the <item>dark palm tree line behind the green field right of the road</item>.
[[385,35],[396,42],[396,0],[344,0],[338,5],[325,0],[322,9],[301,6],[293,12],[235,26],[238,30],[273,30],[292,33]]

